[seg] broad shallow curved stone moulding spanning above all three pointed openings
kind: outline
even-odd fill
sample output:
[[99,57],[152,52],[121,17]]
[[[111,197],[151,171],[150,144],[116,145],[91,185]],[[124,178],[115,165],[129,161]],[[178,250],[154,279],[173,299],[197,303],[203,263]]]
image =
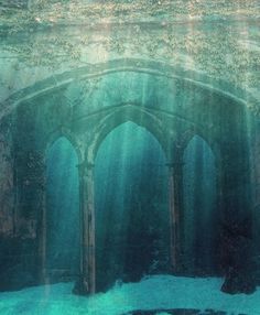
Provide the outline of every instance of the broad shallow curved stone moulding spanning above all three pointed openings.
[[[89,78],[98,78],[112,73],[138,73],[148,74],[149,76],[165,77],[166,79],[177,79],[184,83],[185,86],[198,88],[202,93],[214,94],[227,99],[229,102],[236,102],[242,107],[247,104],[258,106],[258,101],[249,94],[239,88],[227,85],[225,82],[213,79],[202,73],[193,70],[185,70],[184,68],[165,65],[160,62],[151,62],[144,59],[115,59],[109,63],[100,63],[96,65],[88,65],[77,69],[65,72],[61,75],[54,75],[50,78],[35,83],[34,85],[23,88],[1,104],[0,117],[12,112],[22,104],[30,102],[37,98],[46,98],[48,95],[56,95],[61,90],[75,80],[87,80]],[[35,101],[36,102],[36,101]]]

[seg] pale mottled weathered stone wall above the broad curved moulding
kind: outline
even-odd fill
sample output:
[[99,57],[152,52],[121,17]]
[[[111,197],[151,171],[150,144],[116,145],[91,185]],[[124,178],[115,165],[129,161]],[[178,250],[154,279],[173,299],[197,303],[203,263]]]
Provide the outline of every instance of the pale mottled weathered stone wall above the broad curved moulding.
[[259,113],[258,1],[39,4],[30,12],[0,15],[1,66],[17,77],[12,85],[1,79],[2,97],[48,77],[50,69],[53,75],[86,63],[134,57],[160,59],[239,86],[248,100],[254,96],[247,106]]

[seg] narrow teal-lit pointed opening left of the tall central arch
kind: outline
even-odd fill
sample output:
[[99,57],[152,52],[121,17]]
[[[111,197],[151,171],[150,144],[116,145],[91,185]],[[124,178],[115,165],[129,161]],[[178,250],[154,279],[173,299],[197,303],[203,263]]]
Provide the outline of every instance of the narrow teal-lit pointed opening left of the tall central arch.
[[71,281],[79,273],[78,158],[61,137],[46,159],[46,276]]

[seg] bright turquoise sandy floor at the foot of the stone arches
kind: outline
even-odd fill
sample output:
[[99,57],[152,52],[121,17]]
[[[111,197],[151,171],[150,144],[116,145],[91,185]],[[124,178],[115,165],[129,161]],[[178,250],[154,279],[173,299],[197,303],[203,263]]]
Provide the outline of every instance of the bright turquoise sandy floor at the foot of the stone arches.
[[154,275],[139,283],[118,283],[90,297],[73,295],[73,283],[59,283],[0,293],[0,314],[121,315],[134,309],[210,308],[260,315],[260,287],[251,295],[228,295],[220,292],[221,283],[216,278]]

